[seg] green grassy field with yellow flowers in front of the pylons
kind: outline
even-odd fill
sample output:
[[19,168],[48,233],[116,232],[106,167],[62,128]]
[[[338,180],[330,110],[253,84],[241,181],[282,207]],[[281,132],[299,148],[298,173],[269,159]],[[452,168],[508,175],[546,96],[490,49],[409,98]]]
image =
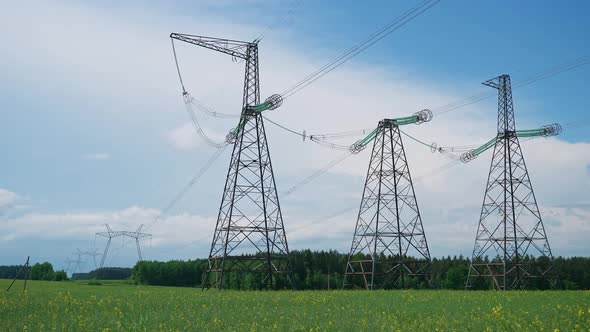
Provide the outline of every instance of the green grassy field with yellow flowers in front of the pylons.
[[0,280],[0,331],[590,331],[590,291],[206,291]]

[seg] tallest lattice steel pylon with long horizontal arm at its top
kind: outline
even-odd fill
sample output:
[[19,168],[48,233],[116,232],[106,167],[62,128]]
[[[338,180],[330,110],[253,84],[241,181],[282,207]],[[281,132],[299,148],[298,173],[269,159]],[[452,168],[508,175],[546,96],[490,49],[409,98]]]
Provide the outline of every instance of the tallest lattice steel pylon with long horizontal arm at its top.
[[177,33],[170,37],[242,59],[246,66],[240,121],[226,139],[234,146],[203,287],[223,288],[230,273],[253,273],[260,287],[292,287],[289,247],[262,117],[262,112],[278,108],[282,98],[272,95],[260,102],[258,41]]

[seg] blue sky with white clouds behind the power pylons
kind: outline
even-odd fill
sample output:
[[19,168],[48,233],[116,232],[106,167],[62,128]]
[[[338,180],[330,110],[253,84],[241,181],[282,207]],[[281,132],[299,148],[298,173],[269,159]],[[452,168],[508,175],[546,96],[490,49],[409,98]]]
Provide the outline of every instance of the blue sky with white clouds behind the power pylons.
[[[0,14],[0,264],[30,254],[60,266],[76,248],[101,247],[104,223],[134,229],[159,210],[213,154],[192,131],[180,96],[170,32],[251,40],[291,1],[23,1]],[[262,97],[284,90],[417,1],[302,0],[260,44]],[[586,1],[441,1],[366,52],[296,94],[273,113],[297,130],[374,127],[385,116],[487,91],[502,73],[513,84],[590,54]],[[237,112],[243,67],[179,46],[187,88]],[[581,66],[514,90],[520,128],[590,120]],[[495,98],[411,132],[442,145],[494,134]],[[208,119],[224,135],[232,121]],[[587,255],[590,235],[588,127],[523,143],[555,255]],[[339,156],[267,124],[279,192]],[[410,129],[409,129],[410,131]],[[351,142],[343,142],[350,144]],[[449,161],[406,142],[434,256],[469,254],[490,155],[429,175]],[[296,155],[297,158],[293,158]],[[365,151],[282,201],[292,249],[346,251],[368,162]],[[225,153],[156,224],[146,257],[205,257],[227,171]],[[555,175],[559,176],[556,177]],[[299,229],[289,233],[289,227]],[[432,235],[429,235],[432,234]],[[133,264],[119,243],[113,265]],[[88,266],[87,266],[88,267]]]

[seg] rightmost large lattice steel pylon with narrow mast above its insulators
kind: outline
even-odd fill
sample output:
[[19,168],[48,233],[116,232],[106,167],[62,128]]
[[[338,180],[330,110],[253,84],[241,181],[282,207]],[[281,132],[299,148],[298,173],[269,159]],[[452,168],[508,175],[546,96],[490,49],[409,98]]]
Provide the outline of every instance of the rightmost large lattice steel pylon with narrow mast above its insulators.
[[[461,156],[468,162],[494,147],[466,287],[553,287],[553,254],[518,139],[558,135],[561,126],[516,130],[510,76],[483,84],[498,90],[498,134]],[[533,266],[531,257],[543,258]]]

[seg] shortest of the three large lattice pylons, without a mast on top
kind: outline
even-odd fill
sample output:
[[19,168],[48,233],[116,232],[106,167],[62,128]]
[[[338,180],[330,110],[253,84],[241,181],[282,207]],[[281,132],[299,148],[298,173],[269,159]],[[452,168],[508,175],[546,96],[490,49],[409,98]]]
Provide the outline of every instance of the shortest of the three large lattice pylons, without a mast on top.
[[429,110],[384,119],[351,146],[358,153],[374,141],[343,287],[430,284],[430,252],[399,126],[431,119]]

